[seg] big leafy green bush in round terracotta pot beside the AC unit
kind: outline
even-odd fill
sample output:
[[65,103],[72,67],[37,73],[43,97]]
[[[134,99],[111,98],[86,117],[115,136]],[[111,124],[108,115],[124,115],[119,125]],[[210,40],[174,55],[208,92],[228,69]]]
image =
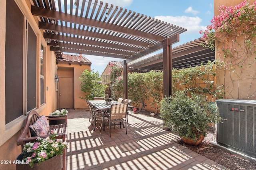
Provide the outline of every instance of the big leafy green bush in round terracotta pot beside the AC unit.
[[200,94],[177,91],[174,96],[164,98],[160,103],[160,117],[164,126],[178,132],[184,143],[199,145],[210,128],[209,123],[219,123],[221,117],[217,106],[207,102]]

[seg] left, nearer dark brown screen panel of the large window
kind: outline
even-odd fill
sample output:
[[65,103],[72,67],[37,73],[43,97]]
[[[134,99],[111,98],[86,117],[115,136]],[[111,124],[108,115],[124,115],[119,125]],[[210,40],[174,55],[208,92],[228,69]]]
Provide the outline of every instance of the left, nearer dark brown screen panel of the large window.
[[6,1],[5,108],[6,124],[23,114],[24,15],[14,2]]

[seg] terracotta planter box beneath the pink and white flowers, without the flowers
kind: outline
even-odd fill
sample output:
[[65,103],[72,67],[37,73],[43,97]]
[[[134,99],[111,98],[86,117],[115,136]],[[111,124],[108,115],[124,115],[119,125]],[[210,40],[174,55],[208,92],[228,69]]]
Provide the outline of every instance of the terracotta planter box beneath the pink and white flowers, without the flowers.
[[56,155],[45,162],[41,162],[40,165],[34,164],[31,168],[25,161],[22,161],[23,154],[20,154],[16,158],[16,170],[61,170],[63,155]]

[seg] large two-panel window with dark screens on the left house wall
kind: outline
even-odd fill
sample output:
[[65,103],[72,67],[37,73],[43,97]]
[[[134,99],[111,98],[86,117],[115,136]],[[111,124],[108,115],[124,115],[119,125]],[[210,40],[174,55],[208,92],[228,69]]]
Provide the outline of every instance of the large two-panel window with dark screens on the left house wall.
[[6,1],[6,124],[36,108],[36,52],[32,27],[16,2]]

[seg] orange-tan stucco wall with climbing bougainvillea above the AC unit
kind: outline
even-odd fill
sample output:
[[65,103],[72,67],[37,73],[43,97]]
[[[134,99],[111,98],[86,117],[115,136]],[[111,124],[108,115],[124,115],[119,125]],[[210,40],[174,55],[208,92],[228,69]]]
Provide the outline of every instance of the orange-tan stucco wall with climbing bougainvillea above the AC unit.
[[[244,2],[244,0],[214,0],[214,15],[217,16],[218,6],[236,6]],[[254,1],[250,1],[252,4]],[[242,42],[243,39],[238,39],[238,42]],[[226,41],[218,43],[216,49],[221,49],[223,47],[232,47],[232,39],[226,38]],[[235,47],[234,47],[235,48]],[[242,50],[241,50],[242,51]],[[240,55],[241,53],[238,53]],[[219,73],[218,78],[216,78],[217,84],[224,84],[225,87],[225,98],[226,99],[249,99],[256,100],[256,55],[252,55],[250,58],[246,57],[244,59],[238,59],[238,57],[226,57],[224,58],[224,53],[221,50],[216,51],[216,59],[220,59],[225,62],[225,70]],[[243,66],[240,67],[240,61],[243,61]],[[231,63],[231,67],[230,67]]]

